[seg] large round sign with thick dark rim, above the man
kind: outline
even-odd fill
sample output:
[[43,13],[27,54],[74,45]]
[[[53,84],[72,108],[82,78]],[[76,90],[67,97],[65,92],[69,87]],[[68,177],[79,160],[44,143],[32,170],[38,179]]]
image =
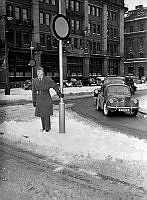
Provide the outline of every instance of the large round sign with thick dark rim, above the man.
[[58,40],[65,40],[70,34],[70,25],[68,19],[62,15],[56,15],[52,20],[52,30]]

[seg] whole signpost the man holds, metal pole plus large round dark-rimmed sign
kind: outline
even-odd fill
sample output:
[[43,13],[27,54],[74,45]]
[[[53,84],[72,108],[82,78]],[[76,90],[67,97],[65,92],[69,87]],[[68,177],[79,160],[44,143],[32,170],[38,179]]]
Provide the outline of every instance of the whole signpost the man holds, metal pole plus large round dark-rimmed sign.
[[[68,38],[69,22],[67,18],[61,14],[61,0],[59,0],[59,14],[52,20],[52,31],[55,37],[59,40],[59,73],[60,73],[60,90],[63,93],[63,61],[62,61],[62,40]],[[59,103],[59,133],[65,133],[65,104],[63,98],[60,98]]]

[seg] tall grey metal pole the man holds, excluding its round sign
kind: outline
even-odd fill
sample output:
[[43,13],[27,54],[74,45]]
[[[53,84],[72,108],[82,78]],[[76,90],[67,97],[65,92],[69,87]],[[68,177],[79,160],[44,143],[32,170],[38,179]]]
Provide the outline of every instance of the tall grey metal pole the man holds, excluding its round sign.
[[[59,14],[61,13],[61,0],[59,0]],[[60,90],[63,93],[63,59],[62,59],[62,40],[59,40],[59,73],[60,73]],[[65,104],[63,98],[59,103],[59,133],[65,133]]]

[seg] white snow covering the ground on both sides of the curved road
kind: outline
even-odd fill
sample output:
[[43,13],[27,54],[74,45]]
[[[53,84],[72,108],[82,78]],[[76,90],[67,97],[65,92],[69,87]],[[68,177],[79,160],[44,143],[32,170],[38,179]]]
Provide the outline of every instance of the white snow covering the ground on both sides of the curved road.
[[[139,89],[146,89],[141,84]],[[92,92],[94,87],[65,88],[64,93]],[[52,95],[55,93],[52,92]],[[3,99],[15,101],[31,99],[31,91],[13,89]],[[147,108],[147,96],[140,99]],[[51,118],[52,130],[40,132],[40,119],[34,118],[32,104],[9,106],[9,112],[18,110],[21,120],[4,121],[0,124],[1,139],[8,138],[16,146],[43,154],[64,165],[76,164],[88,171],[107,174],[147,189],[147,141],[124,135],[91,122],[66,109],[65,134],[59,134],[59,109],[54,106]],[[28,111],[22,120],[23,110]],[[144,120],[147,120],[145,118]],[[3,134],[4,133],[4,134]]]

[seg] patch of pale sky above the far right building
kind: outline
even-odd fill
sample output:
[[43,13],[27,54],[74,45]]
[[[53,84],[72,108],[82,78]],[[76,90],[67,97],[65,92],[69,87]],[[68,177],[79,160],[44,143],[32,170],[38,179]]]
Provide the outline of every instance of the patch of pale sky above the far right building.
[[125,0],[125,4],[127,4],[129,10],[134,10],[136,5],[147,7],[147,0]]

